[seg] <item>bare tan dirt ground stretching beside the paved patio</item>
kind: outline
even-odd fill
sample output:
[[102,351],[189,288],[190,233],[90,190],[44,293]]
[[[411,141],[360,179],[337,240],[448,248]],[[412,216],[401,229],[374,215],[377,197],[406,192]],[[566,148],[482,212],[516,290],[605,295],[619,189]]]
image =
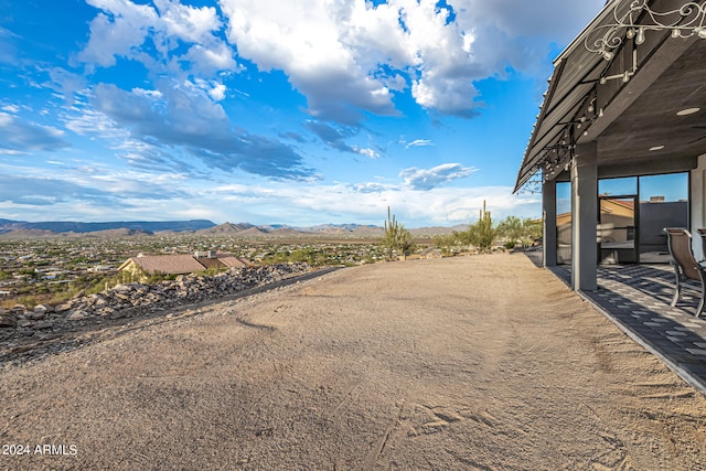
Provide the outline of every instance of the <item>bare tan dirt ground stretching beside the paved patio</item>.
[[0,443],[28,451],[8,470],[705,470],[706,398],[489,255],[341,269],[6,366]]

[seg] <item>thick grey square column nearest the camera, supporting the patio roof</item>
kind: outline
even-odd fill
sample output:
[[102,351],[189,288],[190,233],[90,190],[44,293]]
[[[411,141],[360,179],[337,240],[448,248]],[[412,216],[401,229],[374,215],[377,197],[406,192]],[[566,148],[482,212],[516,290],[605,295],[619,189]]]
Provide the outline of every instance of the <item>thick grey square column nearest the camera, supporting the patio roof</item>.
[[571,288],[598,289],[598,143],[576,147],[571,163]]

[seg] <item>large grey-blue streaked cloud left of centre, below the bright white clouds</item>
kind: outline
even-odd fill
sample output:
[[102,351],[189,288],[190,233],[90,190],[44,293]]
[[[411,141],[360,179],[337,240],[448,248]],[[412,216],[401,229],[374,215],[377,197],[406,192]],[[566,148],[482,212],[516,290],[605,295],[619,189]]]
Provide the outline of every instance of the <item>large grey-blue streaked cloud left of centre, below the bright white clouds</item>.
[[[213,87],[213,88],[211,88]],[[242,170],[272,179],[306,180],[314,178],[303,165],[303,158],[290,146],[265,136],[234,131],[221,104],[212,93],[217,84],[206,82],[160,83],[159,90],[122,90],[115,85],[98,84],[93,106],[126,130],[130,146],[121,157],[132,163],[184,169],[183,156],[196,158],[211,169],[226,172]],[[84,118],[88,115],[84,115]],[[90,119],[97,119],[90,116]],[[75,129],[82,121],[73,124]],[[125,139],[125,138],[124,138]]]

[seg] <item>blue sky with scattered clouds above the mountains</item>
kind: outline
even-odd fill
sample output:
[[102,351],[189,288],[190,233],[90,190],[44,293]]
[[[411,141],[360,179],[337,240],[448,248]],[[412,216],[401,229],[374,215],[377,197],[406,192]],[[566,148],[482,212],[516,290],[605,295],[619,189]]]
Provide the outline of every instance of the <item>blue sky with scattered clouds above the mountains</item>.
[[464,224],[602,0],[0,0],[0,218]]

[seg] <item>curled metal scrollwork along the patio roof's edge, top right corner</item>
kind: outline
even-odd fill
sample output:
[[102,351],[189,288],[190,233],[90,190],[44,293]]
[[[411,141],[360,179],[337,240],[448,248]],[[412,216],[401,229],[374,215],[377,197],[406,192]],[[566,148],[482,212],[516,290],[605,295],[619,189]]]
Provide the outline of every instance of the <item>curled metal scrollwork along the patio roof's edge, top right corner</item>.
[[616,55],[625,39],[637,45],[644,43],[645,31],[672,31],[672,38],[697,35],[706,39],[706,2],[685,2],[680,9],[657,12],[650,8],[648,0],[634,0],[629,10],[620,17],[621,1],[613,9],[614,22],[596,28],[586,36],[586,50],[601,54],[607,61]]

